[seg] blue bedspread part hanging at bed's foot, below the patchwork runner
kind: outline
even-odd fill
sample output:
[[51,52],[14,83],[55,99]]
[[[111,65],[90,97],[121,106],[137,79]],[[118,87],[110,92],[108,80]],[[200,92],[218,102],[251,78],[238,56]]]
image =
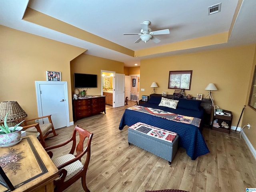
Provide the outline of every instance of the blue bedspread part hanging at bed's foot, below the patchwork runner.
[[176,132],[179,135],[179,145],[186,149],[186,153],[192,160],[209,152],[200,130],[191,124],[170,121],[138,111],[125,110],[119,129],[122,130],[125,125],[131,126],[137,122]]

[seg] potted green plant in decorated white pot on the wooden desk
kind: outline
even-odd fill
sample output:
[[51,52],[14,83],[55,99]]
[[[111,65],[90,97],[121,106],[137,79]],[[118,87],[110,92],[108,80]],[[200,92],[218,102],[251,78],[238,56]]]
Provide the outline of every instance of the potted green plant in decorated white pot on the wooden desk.
[[19,125],[24,122],[24,120],[16,124],[14,127],[8,127],[6,123],[8,113],[4,118],[4,124],[0,125],[0,147],[12,146],[21,140],[22,127]]

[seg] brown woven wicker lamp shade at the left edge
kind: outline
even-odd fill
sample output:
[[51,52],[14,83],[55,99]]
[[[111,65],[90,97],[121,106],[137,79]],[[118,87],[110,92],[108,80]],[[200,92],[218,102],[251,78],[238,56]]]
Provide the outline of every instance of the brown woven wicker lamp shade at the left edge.
[[4,118],[8,112],[6,122],[12,122],[28,116],[17,101],[4,101],[0,103],[0,123],[4,122]]

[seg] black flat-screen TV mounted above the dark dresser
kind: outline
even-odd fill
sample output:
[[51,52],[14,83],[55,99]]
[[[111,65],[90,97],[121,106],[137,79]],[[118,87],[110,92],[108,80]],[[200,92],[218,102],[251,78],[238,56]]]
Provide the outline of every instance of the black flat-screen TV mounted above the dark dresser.
[[75,88],[95,88],[97,87],[97,75],[74,73]]

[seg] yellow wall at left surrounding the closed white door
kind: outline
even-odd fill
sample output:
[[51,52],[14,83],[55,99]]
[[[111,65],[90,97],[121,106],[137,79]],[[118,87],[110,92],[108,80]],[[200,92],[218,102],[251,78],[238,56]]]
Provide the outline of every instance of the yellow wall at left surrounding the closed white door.
[[[46,70],[60,71],[71,95],[70,60],[85,49],[1,25],[0,42],[0,102],[18,101],[28,118],[37,117],[35,81],[45,81]],[[72,121],[72,107],[69,112]]]

